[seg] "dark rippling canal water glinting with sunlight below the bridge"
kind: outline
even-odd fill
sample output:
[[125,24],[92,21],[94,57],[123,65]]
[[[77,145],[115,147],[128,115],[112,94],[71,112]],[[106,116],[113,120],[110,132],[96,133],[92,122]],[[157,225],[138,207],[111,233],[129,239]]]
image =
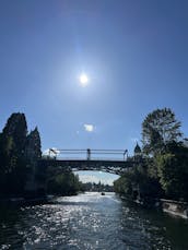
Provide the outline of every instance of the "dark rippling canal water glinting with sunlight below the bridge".
[[188,222],[122,202],[114,193],[0,209],[0,249],[188,249]]

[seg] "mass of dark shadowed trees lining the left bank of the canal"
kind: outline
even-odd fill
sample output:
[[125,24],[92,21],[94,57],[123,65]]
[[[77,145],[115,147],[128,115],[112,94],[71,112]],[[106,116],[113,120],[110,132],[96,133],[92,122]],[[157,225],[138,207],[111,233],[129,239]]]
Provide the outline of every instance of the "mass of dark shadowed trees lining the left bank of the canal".
[[[72,172],[52,172],[39,165],[42,145],[38,129],[27,132],[24,114],[12,114],[0,133],[0,199],[42,198],[47,192],[74,194],[80,181]],[[50,175],[48,175],[50,172]]]

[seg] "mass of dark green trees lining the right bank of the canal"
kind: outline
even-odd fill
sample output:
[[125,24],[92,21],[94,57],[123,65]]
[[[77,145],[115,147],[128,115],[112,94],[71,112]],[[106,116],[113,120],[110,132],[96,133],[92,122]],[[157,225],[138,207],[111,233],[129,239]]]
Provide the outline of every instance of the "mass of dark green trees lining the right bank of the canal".
[[188,201],[188,144],[169,108],[156,109],[142,122],[142,146],[134,167],[114,182],[115,191],[153,203],[160,198]]

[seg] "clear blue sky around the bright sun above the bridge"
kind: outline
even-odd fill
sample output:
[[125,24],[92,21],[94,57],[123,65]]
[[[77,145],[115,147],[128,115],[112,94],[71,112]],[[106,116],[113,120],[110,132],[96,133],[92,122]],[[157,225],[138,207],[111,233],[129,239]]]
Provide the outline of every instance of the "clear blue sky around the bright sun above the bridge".
[[168,107],[188,136],[187,13],[187,0],[0,0],[0,128],[24,112],[43,151],[132,154]]

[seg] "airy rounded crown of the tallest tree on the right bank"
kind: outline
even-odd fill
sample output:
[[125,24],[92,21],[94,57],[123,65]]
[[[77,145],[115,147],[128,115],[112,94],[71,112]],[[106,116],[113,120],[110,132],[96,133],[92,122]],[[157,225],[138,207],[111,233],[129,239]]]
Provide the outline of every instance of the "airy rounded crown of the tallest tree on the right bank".
[[142,122],[142,143],[146,154],[156,155],[169,142],[178,142],[181,138],[180,122],[176,120],[169,108],[150,112]]

